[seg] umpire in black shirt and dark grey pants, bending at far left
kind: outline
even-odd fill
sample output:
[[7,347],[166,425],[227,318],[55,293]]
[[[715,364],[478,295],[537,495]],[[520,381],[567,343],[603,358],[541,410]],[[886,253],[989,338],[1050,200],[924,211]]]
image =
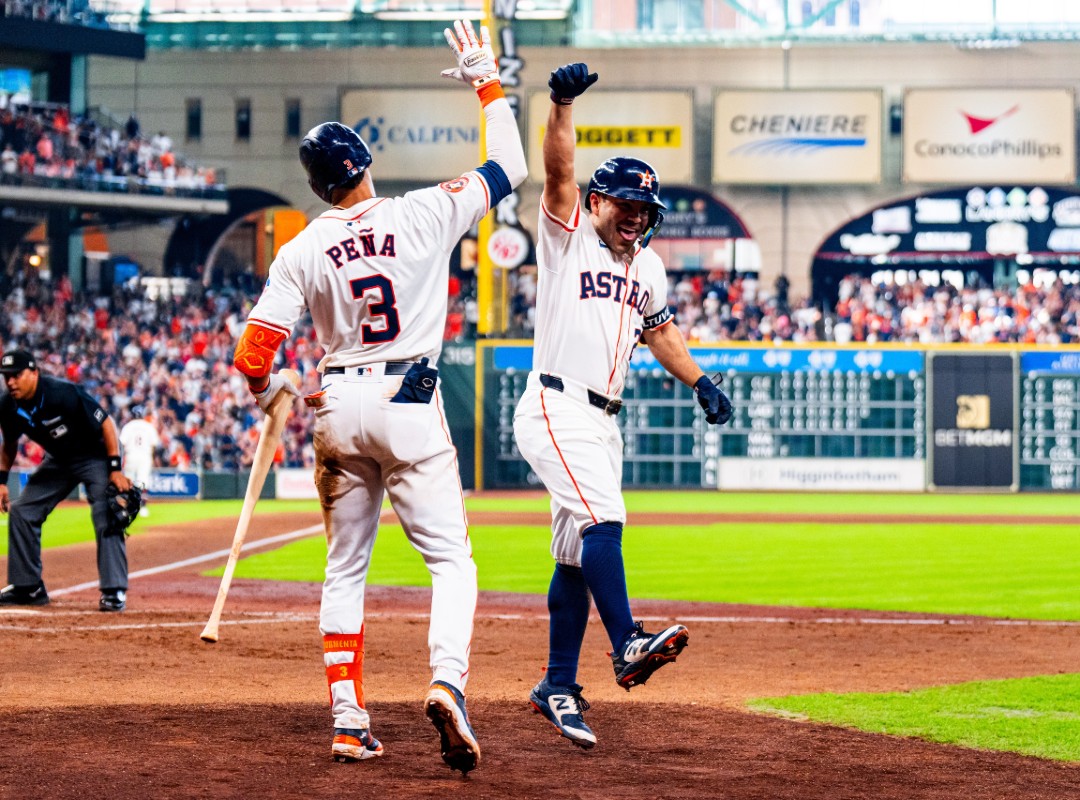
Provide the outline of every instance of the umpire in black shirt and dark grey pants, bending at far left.
[[[123,510],[137,513],[138,501],[132,482],[120,470],[120,439],[112,418],[81,387],[42,375],[37,360],[25,350],[4,353],[0,375],[8,388],[0,396],[0,511],[11,514],[11,585],[0,592],[0,606],[49,604],[41,579],[41,526],[56,504],[82,484],[97,538],[98,608],[123,611],[127,594],[125,529],[132,520]],[[12,503],[9,471],[24,435],[41,445],[46,455]],[[127,500],[133,504],[126,505]]]

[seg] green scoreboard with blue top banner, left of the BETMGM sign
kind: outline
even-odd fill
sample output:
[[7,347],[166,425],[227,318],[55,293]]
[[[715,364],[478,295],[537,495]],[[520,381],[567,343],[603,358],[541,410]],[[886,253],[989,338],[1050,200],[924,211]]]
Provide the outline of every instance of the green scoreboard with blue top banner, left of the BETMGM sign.
[[[537,486],[513,439],[514,406],[531,368],[529,345],[487,348],[484,485]],[[693,391],[645,348],[631,363],[619,416],[626,487],[716,488],[721,459],[926,458],[921,351],[815,348],[691,349],[724,376],[735,413],[708,425]]]

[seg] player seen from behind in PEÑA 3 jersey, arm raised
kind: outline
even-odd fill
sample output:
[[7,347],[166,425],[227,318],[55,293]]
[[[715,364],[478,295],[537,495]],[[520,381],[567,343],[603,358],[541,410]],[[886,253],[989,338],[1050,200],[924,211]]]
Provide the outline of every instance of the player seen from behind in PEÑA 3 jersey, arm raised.
[[326,356],[314,408],[315,483],[328,541],[320,626],[340,760],[381,756],[364,707],[364,585],[383,492],[431,573],[433,680],[424,710],[443,760],[467,773],[480,745],[465,711],[476,606],[457,453],[435,365],[442,350],[449,255],[488,209],[525,179],[517,124],[502,93],[486,28],[457,22],[446,40],[458,66],[443,72],[475,87],[487,161],[399,198],[376,196],[372,153],[350,127],[328,122],[300,145],[311,189],[332,208],[281,248],[237,348],[234,363],[266,409],[295,393],[271,365],[307,307]]

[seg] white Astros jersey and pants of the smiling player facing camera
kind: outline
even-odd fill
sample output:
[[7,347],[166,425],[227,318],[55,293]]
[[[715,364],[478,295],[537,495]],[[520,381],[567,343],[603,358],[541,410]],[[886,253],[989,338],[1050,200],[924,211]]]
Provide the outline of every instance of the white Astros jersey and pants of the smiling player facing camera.
[[626,520],[622,434],[600,406],[622,394],[642,331],[672,321],[667,279],[648,248],[612,255],[580,198],[568,221],[541,203],[537,239],[532,371],[514,437],[551,493],[552,555],[580,567],[581,532]]

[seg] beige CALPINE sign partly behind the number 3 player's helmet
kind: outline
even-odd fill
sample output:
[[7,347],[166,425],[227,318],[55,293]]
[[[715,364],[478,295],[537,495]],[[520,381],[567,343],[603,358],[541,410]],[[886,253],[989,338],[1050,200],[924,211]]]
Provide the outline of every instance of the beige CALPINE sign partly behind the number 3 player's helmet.
[[383,180],[435,181],[477,165],[480,112],[447,90],[350,90],[341,94],[341,121],[355,128]]

